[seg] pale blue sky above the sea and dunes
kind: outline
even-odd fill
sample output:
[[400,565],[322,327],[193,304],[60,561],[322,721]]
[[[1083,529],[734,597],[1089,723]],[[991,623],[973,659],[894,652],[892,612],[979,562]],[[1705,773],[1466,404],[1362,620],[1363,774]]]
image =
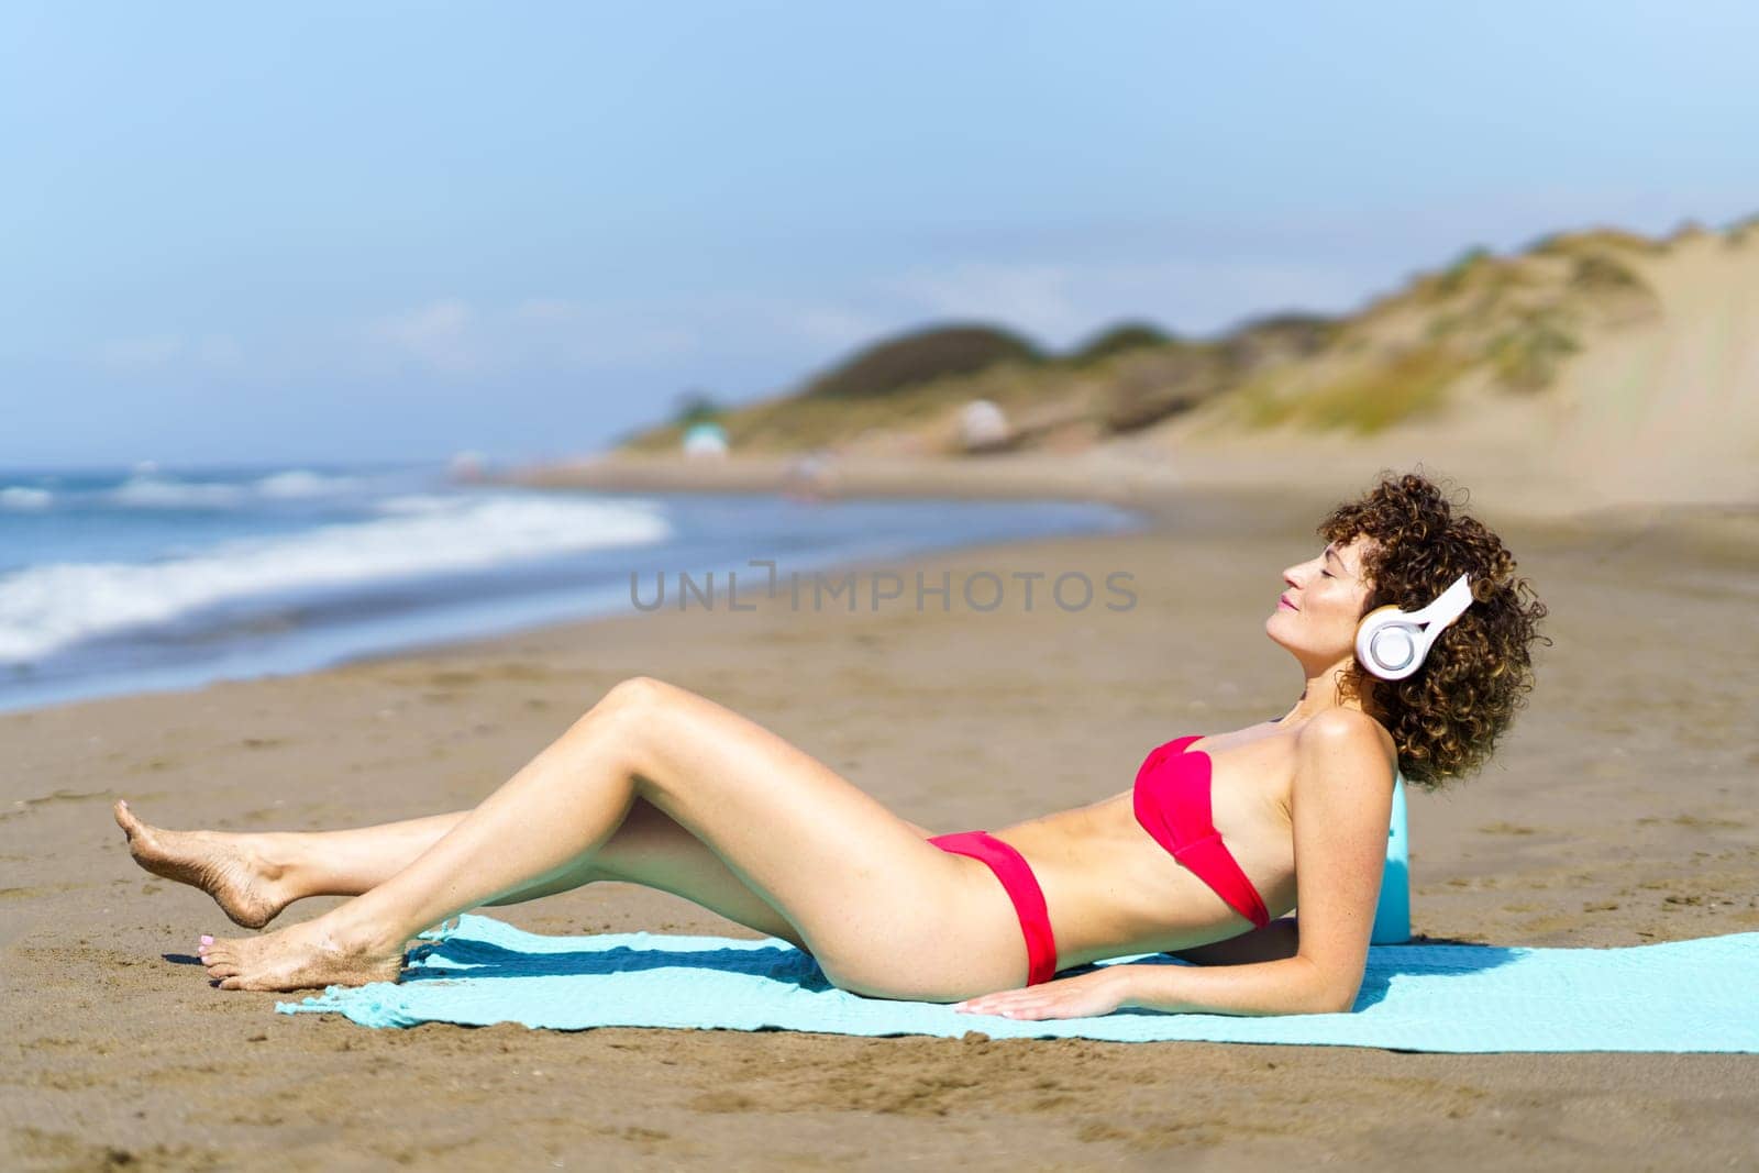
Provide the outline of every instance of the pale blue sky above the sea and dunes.
[[12,4],[0,466],[588,452],[887,332],[1759,211],[1748,4]]

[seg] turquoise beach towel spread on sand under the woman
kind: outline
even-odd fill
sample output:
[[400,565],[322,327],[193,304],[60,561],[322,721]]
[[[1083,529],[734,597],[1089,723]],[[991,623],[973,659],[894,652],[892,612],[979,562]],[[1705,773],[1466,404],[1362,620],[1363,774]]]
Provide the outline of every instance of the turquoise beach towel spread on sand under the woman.
[[[331,987],[285,1015],[584,1031],[695,1027],[1381,1046],[1405,1052],[1759,1052],[1759,932],[1611,950],[1377,944],[1347,1015],[1170,1015],[1015,1022],[832,987],[786,941],[547,937],[466,914],[422,934],[403,981]],[[1115,962],[1182,965],[1166,955]]]

